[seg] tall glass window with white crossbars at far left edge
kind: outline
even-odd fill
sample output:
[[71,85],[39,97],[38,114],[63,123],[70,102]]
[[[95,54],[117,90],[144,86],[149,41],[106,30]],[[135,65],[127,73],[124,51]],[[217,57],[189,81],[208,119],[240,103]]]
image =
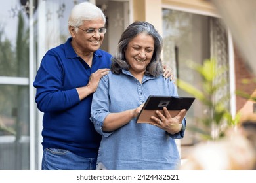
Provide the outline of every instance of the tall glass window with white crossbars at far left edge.
[[20,1],[0,7],[0,169],[30,169],[29,29]]

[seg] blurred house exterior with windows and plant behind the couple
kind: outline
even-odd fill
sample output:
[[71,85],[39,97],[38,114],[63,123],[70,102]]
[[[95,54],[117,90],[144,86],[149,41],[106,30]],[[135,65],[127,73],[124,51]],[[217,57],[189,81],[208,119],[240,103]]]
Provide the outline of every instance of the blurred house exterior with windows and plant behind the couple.
[[[81,2],[1,1],[0,169],[41,169],[42,114],[32,83],[45,52],[70,36],[68,16]],[[102,49],[111,54],[131,22],[148,21],[163,36],[163,61],[173,69],[179,95],[196,97],[185,137],[177,141],[182,162],[198,144],[227,137],[255,114],[256,1],[90,2],[106,14]]]

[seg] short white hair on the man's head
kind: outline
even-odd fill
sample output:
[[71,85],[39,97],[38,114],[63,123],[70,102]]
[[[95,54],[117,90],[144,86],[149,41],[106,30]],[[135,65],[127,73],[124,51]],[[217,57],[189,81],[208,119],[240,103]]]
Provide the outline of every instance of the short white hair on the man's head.
[[102,18],[104,23],[106,23],[106,16],[100,8],[92,3],[85,2],[75,5],[68,18],[68,26],[77,27],[84,24],[85,20],[96,20]]

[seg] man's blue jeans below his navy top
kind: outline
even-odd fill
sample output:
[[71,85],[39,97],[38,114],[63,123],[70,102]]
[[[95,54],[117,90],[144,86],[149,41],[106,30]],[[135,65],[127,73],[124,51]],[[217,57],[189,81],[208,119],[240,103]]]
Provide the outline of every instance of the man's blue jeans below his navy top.
[[95,170],[96,158],[84,158],[56,148],[43,151],[42,170]]

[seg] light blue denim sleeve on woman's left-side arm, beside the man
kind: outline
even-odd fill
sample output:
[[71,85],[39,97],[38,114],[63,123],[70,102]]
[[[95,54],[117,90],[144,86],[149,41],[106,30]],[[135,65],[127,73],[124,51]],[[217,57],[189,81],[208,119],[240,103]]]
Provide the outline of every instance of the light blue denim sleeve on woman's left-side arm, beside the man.
[[93,94],[93,101],[91,105],[91,122],[95,125],[95,129],[100,135],[108,137],[113,132],[104,132],[102,131],[103,122],[110,114],[110,97],[108,93],[108,75],[103,76],[100,79],[98,88]]

